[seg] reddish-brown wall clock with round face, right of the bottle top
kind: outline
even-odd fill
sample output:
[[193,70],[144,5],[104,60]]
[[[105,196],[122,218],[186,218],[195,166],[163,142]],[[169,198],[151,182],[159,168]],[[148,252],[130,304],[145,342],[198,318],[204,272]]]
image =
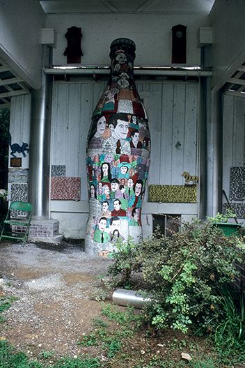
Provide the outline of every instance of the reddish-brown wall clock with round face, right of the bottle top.
[[172,63],[187,62],[187,26],[177,24],[172,27]]

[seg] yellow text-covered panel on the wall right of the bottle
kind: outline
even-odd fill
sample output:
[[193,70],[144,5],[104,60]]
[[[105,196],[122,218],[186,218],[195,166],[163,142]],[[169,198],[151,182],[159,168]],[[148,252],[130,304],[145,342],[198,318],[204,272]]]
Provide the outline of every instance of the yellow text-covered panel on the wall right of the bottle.
[[149,185],[149,202],[196,203],[196,185]]

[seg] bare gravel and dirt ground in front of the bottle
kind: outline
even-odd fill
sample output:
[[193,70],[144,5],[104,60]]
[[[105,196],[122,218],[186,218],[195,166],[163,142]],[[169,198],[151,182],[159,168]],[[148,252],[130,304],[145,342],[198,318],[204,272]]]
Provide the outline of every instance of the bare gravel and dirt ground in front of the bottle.
[[3,312],[0,339],[33,357],[41,351],[55,351],[57,358],[83,353],[86,348],[77,342],[101,311],[89,295],[109,264],[109,259],[88,256],[81,244],[1,243],[0,293],[17,300]]

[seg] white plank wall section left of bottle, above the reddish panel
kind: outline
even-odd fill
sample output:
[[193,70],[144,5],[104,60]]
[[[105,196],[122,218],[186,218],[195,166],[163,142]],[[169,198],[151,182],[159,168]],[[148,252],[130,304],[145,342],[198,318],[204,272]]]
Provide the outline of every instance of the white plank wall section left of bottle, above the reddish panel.
[[81,178],[81,200],[88,200],[86,140],[90,119],[104,84],[54,84],[52,164],[65,165],[66,176]]

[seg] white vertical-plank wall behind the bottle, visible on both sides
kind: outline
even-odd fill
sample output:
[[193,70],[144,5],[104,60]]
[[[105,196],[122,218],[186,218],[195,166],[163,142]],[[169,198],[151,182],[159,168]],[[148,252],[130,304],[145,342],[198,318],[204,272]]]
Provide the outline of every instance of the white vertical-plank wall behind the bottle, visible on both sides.
[[[86,182],[86,139],[90,117],[106,83],[56,82],[52,112],[52,162],[65,165],[67,176],[81,178],[81,201],[52,201],[52,217],[60,220],[61,231],[73,226],[84,236],[88,214]],[[150,184],[182,185],[181,174],[198,174],[198,84],[196,82],[138,82],[137,88],[149,116],[151,135]],[[180,142],[178,146],[177,142]],[[177,146],[176,146],[177,144]],[[145,193],[145,202],[148,193]],[[66,215],[65,215],[66,213]],[[70,213],[70,214],[69,214]],[[80,213],[79,225],[72,213]],[[147,204],[143,222],[151,213],[197,215],[195,204]],[[68,220],[69,217],[69,220]],[[78,219],[78,217],[77,217]],[[66,232],[65,236],[69,236]],[[73,235],[74,236],[74,235]]]

